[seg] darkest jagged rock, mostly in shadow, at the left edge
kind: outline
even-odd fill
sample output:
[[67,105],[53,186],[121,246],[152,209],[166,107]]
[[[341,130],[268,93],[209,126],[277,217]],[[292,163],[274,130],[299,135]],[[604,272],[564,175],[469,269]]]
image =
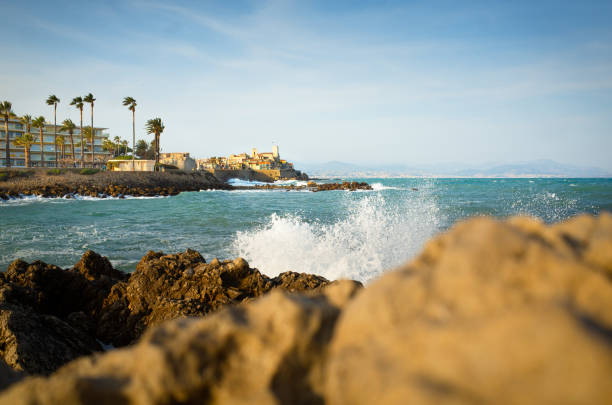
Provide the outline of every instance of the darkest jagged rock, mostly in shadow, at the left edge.
[[118,281],[106,258],[86,252],[73,270],[11,263],[0,274],[0,356],[16,370],[50,373],[101,350],[94,318]]

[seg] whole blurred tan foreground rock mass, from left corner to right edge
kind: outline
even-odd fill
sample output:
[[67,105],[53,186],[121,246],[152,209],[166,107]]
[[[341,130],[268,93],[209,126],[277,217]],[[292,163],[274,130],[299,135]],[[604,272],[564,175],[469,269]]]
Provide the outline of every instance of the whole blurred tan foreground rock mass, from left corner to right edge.
[[276,291],[28,378],[6,404],[612,402],[612,216],[476,219],[362,292]]

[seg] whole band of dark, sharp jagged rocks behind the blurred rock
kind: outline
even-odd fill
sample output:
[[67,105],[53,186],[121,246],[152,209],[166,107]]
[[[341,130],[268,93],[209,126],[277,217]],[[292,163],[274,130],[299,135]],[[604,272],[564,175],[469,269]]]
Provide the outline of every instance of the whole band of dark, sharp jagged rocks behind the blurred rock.
[[15,370],[48,374],[102,348],[127,345],[164,320],[201,316],[273,288],[316,291],[322,277],[276,278],[243,259],[207,264],[195,251],[149,252],[132,274],[86,252],[69,270],[14,261],[0,273],[0,356]]

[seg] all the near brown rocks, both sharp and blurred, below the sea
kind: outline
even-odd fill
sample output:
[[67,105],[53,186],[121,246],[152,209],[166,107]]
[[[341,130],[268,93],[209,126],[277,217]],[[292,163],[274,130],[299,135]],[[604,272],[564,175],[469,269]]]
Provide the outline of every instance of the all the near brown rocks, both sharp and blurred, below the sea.
[[611,403],[611,252],[603,213],[459,223],[365,288],[190,250],[15,261],[0,404]]

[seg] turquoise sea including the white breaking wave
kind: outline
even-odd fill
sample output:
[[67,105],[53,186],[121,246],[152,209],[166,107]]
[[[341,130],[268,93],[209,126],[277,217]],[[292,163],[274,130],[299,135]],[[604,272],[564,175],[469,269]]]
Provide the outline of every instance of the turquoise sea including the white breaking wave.
[[350,180],[373,190],[0,200],[0,270],[17,258],[68,268],[91,249],[131,272],[149,250],[190,248],[207,261],[243,257],[268,276],[293,270],[367,283],[470,217],[528,215],[552,223],[612,212],[612,179]]

